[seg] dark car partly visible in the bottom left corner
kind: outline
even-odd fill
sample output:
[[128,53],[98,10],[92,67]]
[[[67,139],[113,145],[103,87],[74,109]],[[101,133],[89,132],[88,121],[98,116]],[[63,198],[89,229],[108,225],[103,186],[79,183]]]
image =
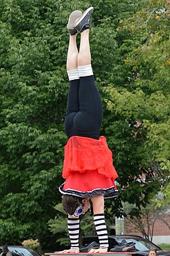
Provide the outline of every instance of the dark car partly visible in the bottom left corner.
[[[41,256],[41,254],[37,253],[33,249],[26,246],[18,246],[18,245],[7,245],[9,251],[12,252],[12,256]],[[0,246],[0,253],[2,251],[2,246]]]

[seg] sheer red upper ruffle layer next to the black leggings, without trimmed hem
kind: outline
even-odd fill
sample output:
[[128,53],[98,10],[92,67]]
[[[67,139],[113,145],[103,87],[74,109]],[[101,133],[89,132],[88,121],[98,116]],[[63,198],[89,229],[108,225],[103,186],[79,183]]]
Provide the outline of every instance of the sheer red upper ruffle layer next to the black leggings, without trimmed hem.
[[79,136],[69,138],[65,145],[63,178],[67,179],[75,171],[84,173],[93,170],[113,180],[118,177],[105,137],[101,136],[99,140]]

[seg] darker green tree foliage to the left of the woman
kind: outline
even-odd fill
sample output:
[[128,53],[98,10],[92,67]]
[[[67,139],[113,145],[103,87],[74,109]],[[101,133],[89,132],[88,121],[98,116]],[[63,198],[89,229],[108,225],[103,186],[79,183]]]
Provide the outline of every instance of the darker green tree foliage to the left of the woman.
[[37,237],[61,200],[67,12],[57,1],[1,1],[2,241]]

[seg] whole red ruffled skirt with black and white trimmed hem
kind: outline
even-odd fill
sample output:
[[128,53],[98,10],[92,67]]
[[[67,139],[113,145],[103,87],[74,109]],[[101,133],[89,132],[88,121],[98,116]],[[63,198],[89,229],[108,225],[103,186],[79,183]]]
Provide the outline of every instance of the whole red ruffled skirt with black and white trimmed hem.
[[73,136],[65,145],[63,178],[59,187],[63,194],[92,197],[102,194],[116,197],[114,180],[118,177],[113,165],[112,152],[105,137],[99,140]]

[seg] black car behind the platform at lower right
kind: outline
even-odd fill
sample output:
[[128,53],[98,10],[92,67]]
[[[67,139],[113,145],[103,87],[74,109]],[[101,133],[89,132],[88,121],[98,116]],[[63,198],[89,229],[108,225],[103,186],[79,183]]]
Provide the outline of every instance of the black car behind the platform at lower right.
[[[122,240],[126,240],[126,242],[134,242],[135,248],[137,251],[137,255],[146,256],[148,255],[148,251],[150,248],[156,248],[157,255],[159,256],[170,256],[170,251],[164,251],[156,244],[150,242],[149,240],[142,238],[141,236],[128,236],[128,235],[121,235],[121,236],[109,236],[109,250],[114,248],[114,246],[120,244]],[[83,238],[83,246],[85,244],[90,244],[91,242],[98,242],[97,236],[86,236]],[[108,251],[109,251],[108,250]]]

